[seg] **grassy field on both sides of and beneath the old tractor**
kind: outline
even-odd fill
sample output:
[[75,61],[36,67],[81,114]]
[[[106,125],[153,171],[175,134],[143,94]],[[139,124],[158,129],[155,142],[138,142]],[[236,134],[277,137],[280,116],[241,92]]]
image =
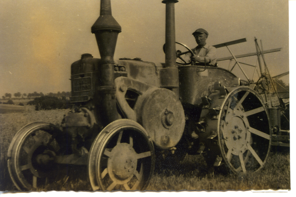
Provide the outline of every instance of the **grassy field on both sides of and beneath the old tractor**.
[[[69,110],[35,111],[34,106],[26,106],[24,113],[0,114],[0,191],[15,191],[8,169],[7,150],[9,144],[24,125],[34,121],[46,121],[59,125]],[[180,166],[155,166],[147,187],[149,191],[159,190],[264,190],[291,189],[290,153],[270,154],[265,166],[257,173],[241,175],[209,175],[202,156],[186,156]],[[57,172],[58,173],[58,172]],[[73,167],[61,180],[40,190],[50,191],[91,191],[86,167]]]

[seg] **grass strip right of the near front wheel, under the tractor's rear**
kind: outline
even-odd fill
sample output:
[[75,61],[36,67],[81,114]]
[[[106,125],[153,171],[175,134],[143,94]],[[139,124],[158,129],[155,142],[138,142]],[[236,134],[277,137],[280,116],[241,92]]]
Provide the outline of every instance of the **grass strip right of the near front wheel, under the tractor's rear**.
[[[267,190],[291,189],[290,154],[274,154],[259,172],[250,174],[215,174],[203,172],[202,156],[186,156],[182,169],[155,174],[147,190]],[[187,170],[185,170],[187,169]]]

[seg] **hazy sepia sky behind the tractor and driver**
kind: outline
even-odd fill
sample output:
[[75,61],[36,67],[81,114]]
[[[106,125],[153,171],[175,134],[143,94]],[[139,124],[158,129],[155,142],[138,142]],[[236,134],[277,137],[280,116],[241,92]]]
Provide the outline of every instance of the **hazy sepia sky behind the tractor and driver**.
[[[115,59],[164,62],[161,1],[111,0],[112,15],[122,27]],[[82,53],[100,57],[90,31],[99,10],[99,0],[1,0],[0,97],[6,92],[71,91],[71,64]],[[176,40],[190,48],[196,46],[191,34],[197,28],[209,32],[207,42],[212,45],[246,38],[247,42],[229,46],[235,55],[256,52],[256,37],[264,50],[282,48],[265,55],[271,75],[289,71],[288,0],[179,0],[175,10]],[[227,49],[218,49],[219,58],[227,56]],[[240,61],[257,62],[256,57]],[[229,61],[219,65],[228,68]],[[235,72],[241,75],[238,69]],[[282,79],[289,83],[289,75]]]

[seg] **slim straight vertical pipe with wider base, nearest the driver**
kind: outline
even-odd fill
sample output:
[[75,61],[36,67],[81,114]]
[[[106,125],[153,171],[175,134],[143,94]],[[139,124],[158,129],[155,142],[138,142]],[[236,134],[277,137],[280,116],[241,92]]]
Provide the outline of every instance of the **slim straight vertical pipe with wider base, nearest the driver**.
[[165,18],[165,69],[160,71],[161,87],[179,87],[179,73],[176,65],[175,3],[178,0],[163,0],[166,4]]

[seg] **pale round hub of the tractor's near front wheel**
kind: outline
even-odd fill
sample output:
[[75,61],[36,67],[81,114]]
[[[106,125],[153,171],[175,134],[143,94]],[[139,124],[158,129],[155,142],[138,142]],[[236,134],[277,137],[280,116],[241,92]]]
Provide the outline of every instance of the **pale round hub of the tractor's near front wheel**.
[[123,183],[128,182],[137,169],[137,153],[127,143],[116,145],[111,151],[112,157],[108,160],[108,172],[111,179]]

